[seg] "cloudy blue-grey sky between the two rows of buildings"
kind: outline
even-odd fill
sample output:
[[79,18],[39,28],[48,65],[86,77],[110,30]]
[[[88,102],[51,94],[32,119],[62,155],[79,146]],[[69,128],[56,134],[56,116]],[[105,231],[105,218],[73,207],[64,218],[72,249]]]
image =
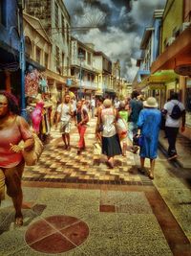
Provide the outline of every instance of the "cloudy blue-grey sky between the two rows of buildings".
[[121,76],[133,81],[140,56],[139,44],[146,26],[152,25],[155,9],[166,0],[64,0],[71,14],[73,35],[82,42],[92,42],[113,61],[119,59]]

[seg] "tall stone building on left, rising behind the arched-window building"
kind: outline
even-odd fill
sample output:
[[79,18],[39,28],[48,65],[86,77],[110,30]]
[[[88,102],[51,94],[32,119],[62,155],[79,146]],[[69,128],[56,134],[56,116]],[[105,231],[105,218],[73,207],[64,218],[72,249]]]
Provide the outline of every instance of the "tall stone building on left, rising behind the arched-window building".
[[[70,78],[71,17],[61,0],[27,0],[25,12],[38,18],[52,41],[52,52],[47,77],[49,86],[60,92]],[[36,28],[42,30],[42,28]]]

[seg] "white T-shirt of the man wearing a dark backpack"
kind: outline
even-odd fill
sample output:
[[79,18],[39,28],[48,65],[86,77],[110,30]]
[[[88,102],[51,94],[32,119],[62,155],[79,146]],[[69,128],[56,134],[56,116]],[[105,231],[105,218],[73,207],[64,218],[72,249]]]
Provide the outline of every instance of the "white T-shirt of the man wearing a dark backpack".
[[184,105],[182,105],[182,103],[180,103],[180,101],[178,101],[178,100],[171,100],[170,102],[166,103],[164,105],[164,109],[167,110],[165,127],[180,128],[181,118],[173,119],[172,117],[170,117],[174,105],[179,105],[181,111],[183,111],[185,109]]

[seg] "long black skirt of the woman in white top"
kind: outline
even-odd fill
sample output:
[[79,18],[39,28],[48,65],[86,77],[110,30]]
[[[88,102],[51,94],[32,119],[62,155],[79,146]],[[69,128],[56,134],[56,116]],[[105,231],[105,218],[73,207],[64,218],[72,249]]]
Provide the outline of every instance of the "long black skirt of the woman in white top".
[[110,157],[122,153],[117,134],[112,137],[102,137],[102,153]]

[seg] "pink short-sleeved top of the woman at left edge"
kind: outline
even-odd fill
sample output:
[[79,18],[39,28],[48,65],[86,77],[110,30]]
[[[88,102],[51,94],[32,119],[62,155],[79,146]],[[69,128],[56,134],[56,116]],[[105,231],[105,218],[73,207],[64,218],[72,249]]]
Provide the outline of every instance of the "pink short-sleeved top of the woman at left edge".
[[21,152],[11,151],[11,145],[18,145],[21,140],[32,138],[32,131],[25,126],[26,121],[22,117],[15,117],[9,127],[0,129],[0,167],[12,168],[22,160]]

